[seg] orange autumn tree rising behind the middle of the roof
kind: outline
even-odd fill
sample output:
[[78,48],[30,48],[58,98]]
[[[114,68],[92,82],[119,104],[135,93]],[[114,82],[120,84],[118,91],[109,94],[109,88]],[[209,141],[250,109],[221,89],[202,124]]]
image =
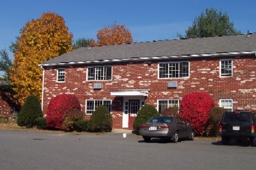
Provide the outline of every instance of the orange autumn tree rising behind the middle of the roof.
[[124,25],[118,25],[116,23],[112,24],[112,26],[104,27],[99,30],[97,38],[98,41],[91,42],[91,46],[117,45],[133,42],[131,32],[126,29]]

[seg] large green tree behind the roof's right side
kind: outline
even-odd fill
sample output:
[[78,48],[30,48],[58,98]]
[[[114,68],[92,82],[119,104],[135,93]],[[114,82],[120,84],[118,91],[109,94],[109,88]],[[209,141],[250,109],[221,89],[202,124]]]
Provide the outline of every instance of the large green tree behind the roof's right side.
[[[234,23],[229,21],[227,13],[222,13],[214,8],[202,11],[195,17],[192,26],[186,30],[185,38],[216,37],[219,35],[238,35],[240,31],[234,29]],[[179,38],[184,38],[177,34]]]

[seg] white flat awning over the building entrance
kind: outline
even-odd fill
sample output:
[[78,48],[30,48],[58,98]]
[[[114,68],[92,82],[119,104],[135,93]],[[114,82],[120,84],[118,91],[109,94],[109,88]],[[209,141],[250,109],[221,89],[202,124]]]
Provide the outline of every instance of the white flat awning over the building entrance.
[[148,92],[150,90],[118,90],[118,91],[111,91],[111,96],[148,96]]

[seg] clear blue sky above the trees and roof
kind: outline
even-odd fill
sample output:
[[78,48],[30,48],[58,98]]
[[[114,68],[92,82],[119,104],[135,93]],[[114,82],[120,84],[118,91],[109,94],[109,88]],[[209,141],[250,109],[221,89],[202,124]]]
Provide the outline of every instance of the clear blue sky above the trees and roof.
[[[73,40],[93,38],[105,26],[124,24],[134,41],[177,39],[184,35],[195,16],[207,8],[227,12],[234,28],[243,34],[256,32],[255,0],[1,0],[0,50],[7,49],[20,28],[44,12],[61,15]],[[9,57],[13,54],[9,52]]]

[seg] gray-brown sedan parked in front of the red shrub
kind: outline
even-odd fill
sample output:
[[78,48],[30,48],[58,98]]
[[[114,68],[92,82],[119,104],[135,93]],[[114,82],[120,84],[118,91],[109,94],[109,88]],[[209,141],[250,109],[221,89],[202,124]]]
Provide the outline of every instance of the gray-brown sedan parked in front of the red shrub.
[[155,116],[140,126],[139,133],[145,142],[150,142],[151,138],[161,138],[177,143],[179,139],[194,140],[195,131],[180,117]]

